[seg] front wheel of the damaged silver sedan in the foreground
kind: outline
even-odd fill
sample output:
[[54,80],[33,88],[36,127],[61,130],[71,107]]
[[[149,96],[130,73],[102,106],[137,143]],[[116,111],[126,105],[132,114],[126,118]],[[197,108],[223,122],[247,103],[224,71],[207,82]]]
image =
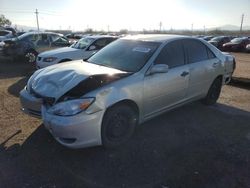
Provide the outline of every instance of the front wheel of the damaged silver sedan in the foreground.
[[115,148],[126,142],[134,133],[138,115],[128,105],[116,105],[106,111],[101,136],[105,148]]

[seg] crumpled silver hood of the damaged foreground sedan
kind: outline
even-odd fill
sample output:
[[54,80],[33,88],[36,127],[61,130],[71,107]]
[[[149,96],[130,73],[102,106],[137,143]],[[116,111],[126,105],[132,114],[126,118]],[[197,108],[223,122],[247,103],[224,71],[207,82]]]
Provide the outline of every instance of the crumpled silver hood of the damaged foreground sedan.
[[28,87],[40,96],[57,100],[90,76],[118,73],[126,72],[77,60],[36,71],[30,78]]

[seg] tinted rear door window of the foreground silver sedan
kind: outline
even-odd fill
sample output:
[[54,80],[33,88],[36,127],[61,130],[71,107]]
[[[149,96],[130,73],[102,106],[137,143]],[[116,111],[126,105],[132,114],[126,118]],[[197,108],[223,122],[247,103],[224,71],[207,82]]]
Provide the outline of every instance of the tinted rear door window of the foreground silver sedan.
[[188,53],[188,63],[195,63],[209,59],[207,47],[198,40],[184,40],[184,47]]

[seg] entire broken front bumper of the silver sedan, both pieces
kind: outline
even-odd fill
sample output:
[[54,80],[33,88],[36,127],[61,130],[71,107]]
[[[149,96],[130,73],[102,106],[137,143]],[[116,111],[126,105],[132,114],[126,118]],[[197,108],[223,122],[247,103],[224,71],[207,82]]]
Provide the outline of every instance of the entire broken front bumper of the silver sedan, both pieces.
[[87,114],[85,111],[74,116],[57,116],[47,112],[42,99],[20,92],[22,111],[43,119],[45,128],[62,145],[69,148],[84,148],[101,145],[101,124],[104,110]]

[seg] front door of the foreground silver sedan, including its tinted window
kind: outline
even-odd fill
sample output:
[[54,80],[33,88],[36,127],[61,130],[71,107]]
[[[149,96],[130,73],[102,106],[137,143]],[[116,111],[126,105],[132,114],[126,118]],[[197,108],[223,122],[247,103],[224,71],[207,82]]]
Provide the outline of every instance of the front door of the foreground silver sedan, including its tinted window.
[[161,50],[154,64],[167,64],[167,73],[147,75],[144,78],[144,114],[154,115],[181,103],[187,92],[189,69],[185,64],[181,40],[172,41]]

